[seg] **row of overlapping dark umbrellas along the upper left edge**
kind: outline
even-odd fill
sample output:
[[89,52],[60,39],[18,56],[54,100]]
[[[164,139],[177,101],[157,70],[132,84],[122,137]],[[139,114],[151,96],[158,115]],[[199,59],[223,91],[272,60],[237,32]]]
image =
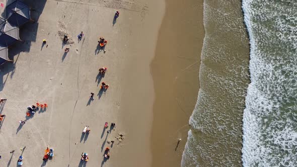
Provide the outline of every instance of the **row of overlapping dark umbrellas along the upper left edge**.
[[0,18],[0,65],[7,61],[8,47],[20,41],[19,27],[31,20],[30,9],[19,0],[6,7],[7,19]]

